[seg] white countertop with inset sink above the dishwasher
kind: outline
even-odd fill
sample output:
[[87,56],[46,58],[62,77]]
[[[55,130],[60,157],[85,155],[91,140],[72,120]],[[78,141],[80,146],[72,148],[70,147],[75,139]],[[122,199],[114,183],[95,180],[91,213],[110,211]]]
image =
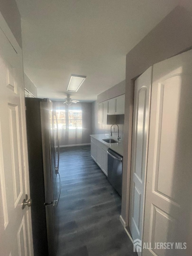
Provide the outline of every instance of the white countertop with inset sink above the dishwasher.
[[103,139],[117,140],[117,137],[111,136],[110,134],[91,134],[90,136],[102,142],[103,144],[108,146],[110,149],[113,149],[115,152],[123,156],[123,140],[119,140],[117,143],[107,143]]

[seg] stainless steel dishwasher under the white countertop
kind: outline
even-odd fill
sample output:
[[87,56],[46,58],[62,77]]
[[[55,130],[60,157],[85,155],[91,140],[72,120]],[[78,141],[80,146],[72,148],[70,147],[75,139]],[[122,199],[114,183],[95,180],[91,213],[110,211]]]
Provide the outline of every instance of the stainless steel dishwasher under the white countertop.
[[122,196],[122,167],[123,157],[113,151],[107,149],[108,154],[108,181],[116,189],[116,191]]

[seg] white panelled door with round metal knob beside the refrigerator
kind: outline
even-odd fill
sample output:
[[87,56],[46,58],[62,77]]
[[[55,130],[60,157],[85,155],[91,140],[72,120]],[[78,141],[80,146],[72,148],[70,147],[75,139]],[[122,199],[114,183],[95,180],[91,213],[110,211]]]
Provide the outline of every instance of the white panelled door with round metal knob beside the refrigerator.
[[[1,20],[2,17],[0,25]],[[0,254],[3,256],[32,255],[29,207],[21,208],[29,184],[24,120],[22,51],[16,41],[10,43],[0,28]]]

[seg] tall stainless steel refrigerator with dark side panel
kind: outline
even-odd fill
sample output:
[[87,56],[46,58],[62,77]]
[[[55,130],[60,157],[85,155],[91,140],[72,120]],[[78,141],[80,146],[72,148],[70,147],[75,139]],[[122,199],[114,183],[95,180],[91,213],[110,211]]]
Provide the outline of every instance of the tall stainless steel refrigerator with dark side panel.
[[26,98],[32,233],[35,256],[55,256],[61,192],[56,112],[49,99]]

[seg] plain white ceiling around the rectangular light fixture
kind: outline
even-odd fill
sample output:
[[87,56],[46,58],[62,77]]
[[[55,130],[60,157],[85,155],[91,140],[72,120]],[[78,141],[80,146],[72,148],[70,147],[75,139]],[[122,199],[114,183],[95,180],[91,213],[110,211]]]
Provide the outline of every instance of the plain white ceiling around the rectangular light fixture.
[[73,100],[94,101],[125,80],[126,54],[179,0],[16,0],[24,71],[38,97],[63,100],[71,74],[87,76]]

